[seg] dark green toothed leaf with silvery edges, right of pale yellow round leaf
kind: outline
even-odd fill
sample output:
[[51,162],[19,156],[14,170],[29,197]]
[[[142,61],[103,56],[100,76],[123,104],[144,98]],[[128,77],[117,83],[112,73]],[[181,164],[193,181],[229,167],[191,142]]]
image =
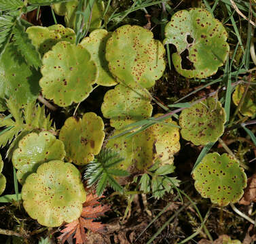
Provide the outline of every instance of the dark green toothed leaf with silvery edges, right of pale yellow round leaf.
[[116,191],[123,191],[122,186],[115,180],[115,178],[129,176],[127,171],[117,168],[123,160],[117,152],[111,149],[103,149],[87,165],[84,179],[88,180],[89,187],[96,183],[96,193],[98,196],[103,194],[107,185]]

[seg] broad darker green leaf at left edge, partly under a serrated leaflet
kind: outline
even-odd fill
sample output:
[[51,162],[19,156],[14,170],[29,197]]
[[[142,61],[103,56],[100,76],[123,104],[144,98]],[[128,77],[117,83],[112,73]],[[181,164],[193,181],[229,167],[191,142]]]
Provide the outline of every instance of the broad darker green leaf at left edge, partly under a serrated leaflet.
[[[13,43],[0,56],[0,98],[12,96],[20,106],[39,95],[40,73],[26,64]],[[4,107],[3,107],[4,108]]]

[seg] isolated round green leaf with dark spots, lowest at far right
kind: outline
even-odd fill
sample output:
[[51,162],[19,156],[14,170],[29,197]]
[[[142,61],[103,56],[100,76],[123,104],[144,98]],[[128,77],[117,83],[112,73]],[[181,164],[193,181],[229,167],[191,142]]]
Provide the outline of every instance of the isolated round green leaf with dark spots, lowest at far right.
[[196,190],[202,197],[209,197],[220,206],[239,201],[246,187],[244,169],[227,153],[209,153],[198,164],[192,176]]

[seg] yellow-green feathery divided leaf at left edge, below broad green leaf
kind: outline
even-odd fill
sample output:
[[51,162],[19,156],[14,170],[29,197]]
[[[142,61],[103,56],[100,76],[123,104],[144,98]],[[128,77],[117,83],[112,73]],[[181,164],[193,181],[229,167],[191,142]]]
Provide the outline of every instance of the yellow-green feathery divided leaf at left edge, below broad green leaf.
[[[52,129],[52,121],[50,115],[45,116],[44,107],[35,106],[33,102],[26,104],[24,109],[20,109],[20,104],[16,100],[7,100],[7,107],[14,119],[10,116],[0,115],[0,127],[9,128],[0,136],[0,146],[3,147],[7,143],[11,143],[7,155],[9,159],[12,157],[12,152],[18,141],[29,134],[33,130],[45,130]],[[18,134],[21,134],[18,136]],[[18,136],[18,137],[17,137]]]

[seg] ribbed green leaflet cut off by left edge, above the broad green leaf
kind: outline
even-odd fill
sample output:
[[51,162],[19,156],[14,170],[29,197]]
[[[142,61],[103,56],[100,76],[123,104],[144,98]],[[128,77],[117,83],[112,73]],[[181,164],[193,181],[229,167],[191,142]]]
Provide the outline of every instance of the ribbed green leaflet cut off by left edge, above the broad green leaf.
[[[1,3],[0,3],[0,9],[1,9]],[[13,16],[7,16],[7,15],[0,16],[0,55],[5,49],[5,45],[10,41],[14,22],[15,22],[15,18]]]

